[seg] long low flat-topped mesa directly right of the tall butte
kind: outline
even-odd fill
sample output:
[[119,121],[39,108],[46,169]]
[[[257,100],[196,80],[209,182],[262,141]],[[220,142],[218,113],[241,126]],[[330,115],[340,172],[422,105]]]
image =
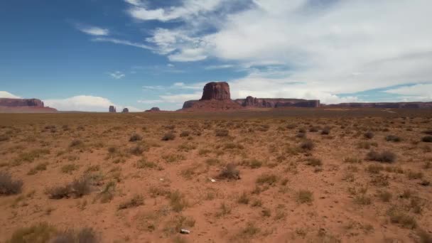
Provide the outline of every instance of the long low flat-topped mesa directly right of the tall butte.
[[252,96],[246,99],[235,99],[235,102],[242,107],[257,108],[279,108],[279,107],[320,107],[318,99],[282,99],[282,98],[255,98]]

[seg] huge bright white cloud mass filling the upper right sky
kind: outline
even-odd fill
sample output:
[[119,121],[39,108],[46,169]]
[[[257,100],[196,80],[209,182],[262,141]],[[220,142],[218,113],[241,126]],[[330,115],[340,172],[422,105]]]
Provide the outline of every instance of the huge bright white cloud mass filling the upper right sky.
[[[183,23],[158,28],[146,41],[171,61],[217,58],[249,68],[243,80],[257,82],[252,77],[261,77],[274,82],[261,89],[269,90],[268,95],[288,89],[298,89],[297,96],[305,89],[335,95],[431,82],[432,1],[253,0],[252,6],[236,12],[227,10],[235,1],[216,1],[208,8],[186,8],[195,1],[181,2],[167,9],[141,8],[142,16],[132,14],[141,20]],[[153,15],[145,15],[147,11]],[[225,14],[209,23],[218,11]],[[250,69],[275,64],[287,68],[277,73],[267,68],[259,75]],[[304,85],[286,85],[291,82]]]

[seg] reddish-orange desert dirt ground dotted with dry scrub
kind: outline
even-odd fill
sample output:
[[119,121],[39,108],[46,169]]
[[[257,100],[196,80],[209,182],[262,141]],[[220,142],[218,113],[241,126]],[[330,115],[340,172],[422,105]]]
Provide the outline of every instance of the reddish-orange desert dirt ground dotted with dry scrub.
[[0,114],[0,176],[23,183],[0,193],[0,242],[82,228],[99,242],[431,242],[428,133],[430,110]]

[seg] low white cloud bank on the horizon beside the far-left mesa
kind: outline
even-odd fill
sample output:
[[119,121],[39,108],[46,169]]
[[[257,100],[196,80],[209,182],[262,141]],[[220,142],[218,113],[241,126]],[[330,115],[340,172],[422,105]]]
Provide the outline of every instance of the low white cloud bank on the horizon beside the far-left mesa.
[[136,107],[121,106],[114,104],[109,99],[91,95],[78,95],[65,99],[45,99],[45,106],[53,107],[59,111],[80,111],[80,112],[108,112],[110,105],[117,107],[117,112],[128,108],[129,112],[141,112]]

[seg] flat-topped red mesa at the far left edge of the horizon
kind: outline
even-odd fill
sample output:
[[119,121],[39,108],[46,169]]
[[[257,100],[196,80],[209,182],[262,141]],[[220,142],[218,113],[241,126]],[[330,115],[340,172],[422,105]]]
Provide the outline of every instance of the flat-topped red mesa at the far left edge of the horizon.
[[0,112],[53,113],[57,112],[57,109],[45,107],[41,99],[0,98]]

